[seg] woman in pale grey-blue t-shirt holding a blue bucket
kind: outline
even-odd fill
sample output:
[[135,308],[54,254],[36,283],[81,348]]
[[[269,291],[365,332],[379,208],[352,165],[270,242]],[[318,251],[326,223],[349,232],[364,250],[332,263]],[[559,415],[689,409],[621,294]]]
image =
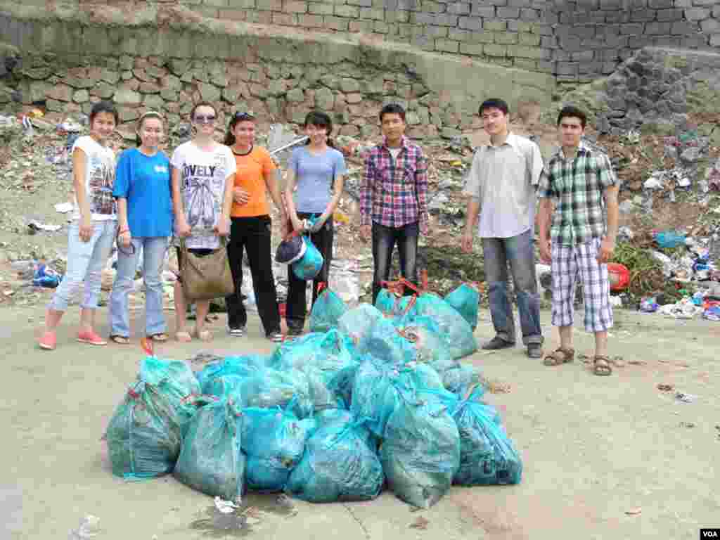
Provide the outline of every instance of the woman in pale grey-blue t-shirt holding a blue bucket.
[[[302,232],[304,220],[317,218],[310,231],[310,240],[325,261],[312,283],[313,304],[318,298],[318,285],[328,282],[333,258],[333,212],[343,193],[343,175],[346,174],[345,158],[330,140],[332,131],[333,122],[327,114],[318,111],[307,114],[307,145],[292,152],[285,187],[287,215],[294,230]],[[287,267],[287,281],[287,333],[298,336],[305,326],[307,313],[305,281],[295,276],[292,265]]]

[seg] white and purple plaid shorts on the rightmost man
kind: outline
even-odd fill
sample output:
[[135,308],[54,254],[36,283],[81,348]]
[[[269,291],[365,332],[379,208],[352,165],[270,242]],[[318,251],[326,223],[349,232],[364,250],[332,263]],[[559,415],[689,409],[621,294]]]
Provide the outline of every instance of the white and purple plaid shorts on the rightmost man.
[[603,332],[613,326],[608,265],[599,264],[601,238],[577,246],[552,243],[552,324],[572,325],[575,284],[578,274],[585,297],[585,330]]

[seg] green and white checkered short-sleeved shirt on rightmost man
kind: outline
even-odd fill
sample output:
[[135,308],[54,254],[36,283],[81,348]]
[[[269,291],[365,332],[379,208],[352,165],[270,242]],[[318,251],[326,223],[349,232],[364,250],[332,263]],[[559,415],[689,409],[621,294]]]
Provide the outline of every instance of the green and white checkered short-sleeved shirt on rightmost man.
[[617,183],[607,154],[581,142],[575,158],[565,159],[559,148],[546,163],[537,192],[555,203],[552,241],[575,246],[602,238],[607,230],[603,192]]

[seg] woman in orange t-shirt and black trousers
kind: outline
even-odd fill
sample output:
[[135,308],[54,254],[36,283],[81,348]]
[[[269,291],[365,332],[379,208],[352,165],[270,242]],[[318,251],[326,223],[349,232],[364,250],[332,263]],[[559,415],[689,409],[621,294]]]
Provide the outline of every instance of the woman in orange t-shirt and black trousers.
[[225,145],[233,150],[238,171],[235,174],[233,207],[230,210],[230,243],[228,259],[235,280],[235,293],[225,298],[228,307],[228,332],[243,336],[248,315],[240,296],[243,284],[243,250],[248,253],[253,290],[258,315],[265,335],[272,341],[282,341],[280,313],[277,305],[275,278],[272,274],[271,219],[266,191],[280,210],[283,237],[287,234],[279,186],[275,179],[275,164],[265,148],[255,146],[255,118],[237,112],[230,120]]

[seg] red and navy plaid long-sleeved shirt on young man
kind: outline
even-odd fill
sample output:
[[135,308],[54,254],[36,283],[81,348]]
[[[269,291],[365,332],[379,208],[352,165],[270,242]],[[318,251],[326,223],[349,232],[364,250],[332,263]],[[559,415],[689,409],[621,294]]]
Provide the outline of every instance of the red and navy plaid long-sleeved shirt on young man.
[[377,145],[365,158],[360,186],[360,222],[376,222],[399,228],[414,222],[428,222],[428,161],[420,146],[402,138],[397,162],[386,142]]

